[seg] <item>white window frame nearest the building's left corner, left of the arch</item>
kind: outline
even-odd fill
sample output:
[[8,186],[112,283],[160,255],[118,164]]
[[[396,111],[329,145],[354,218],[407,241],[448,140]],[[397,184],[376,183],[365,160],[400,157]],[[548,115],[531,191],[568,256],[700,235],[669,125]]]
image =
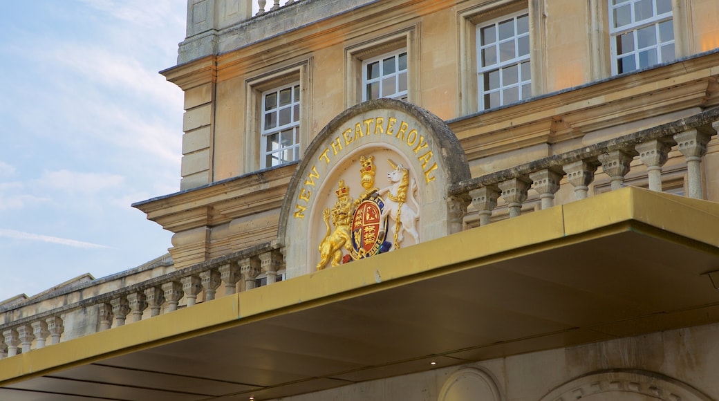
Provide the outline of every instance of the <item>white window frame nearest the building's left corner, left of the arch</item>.
[[[289,102],[280,105],[280,93],[290,90]],[[275,103],[267,109],[267,99],[275,95]],[[301,86],[300,81],[272,88],[262,92],[261,127],[260,127],[260,168],[275,167],[294,162],[300,158],[300,115],[301,115]],[[289,121],[280,124],[280,116],[286,112]],[[274,124],[272,123],[274,116]],[[270,124],[268,124],[270,123]],[[289,141],[282,143],[285,135],[290,133]],[[270,149],[270,138],[277,135],[278,141]],[[268,163],[268,160],[273,162]],[[274,162],[276,160],[277,162]]]

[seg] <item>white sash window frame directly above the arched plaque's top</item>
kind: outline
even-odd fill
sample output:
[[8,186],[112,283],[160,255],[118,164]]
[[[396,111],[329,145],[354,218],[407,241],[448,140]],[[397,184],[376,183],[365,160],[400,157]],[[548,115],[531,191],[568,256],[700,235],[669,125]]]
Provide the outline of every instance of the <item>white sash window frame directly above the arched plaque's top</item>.
[[[403,69],[400,69],[400,57],[404,57],[405,65]],[[393,64],[393,72],[387,73],[385,66],[388,60],[391,59]],[[367,68],[377,63],[378,75],[377,77],[368,77]],[[388,88],[388,83],[392,80],[393,88]],[[400,89],[401,82],[404,82],[404,89]],[[386,52],[383,55],[372,57],[367,60],[362,60],[362,101],[372,100],[368,96],[368,86],[376,84],[378,96],[376,98],[395,98],[403,101],[408,100],[408,89],[409,89],[409,57],[407,48],[403,47],[392,52]],[[390,91],[387,95],[383,96],[385,89]]]

